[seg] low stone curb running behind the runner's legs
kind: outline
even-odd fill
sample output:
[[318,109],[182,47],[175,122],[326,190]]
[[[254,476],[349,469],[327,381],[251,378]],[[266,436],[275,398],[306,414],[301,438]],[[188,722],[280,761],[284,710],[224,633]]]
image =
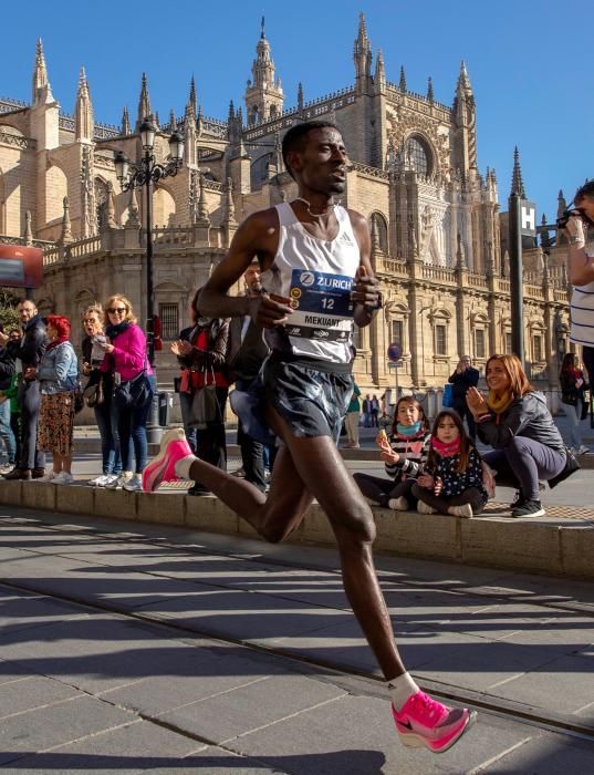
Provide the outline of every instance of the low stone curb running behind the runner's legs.
[[[247,523],[213,496],[175,493],[128,493],[84,485],[3,480],[0,504],[61,514],[112,519],[137,519],[258,538]],[[551,520],[503,517],[459,517],[394,513],[374,508],[378,554],[504,568],[594,581],[594,524],[564,525]],[[330,523],[316,504],[311,506],[292,544],[334,546]]]

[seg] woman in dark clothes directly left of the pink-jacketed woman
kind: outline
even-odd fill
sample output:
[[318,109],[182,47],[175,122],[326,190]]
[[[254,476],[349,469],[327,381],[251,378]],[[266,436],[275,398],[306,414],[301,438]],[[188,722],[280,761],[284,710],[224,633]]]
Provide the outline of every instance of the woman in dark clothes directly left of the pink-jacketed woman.
[[[95,391],[93,412],[101,437],[102,473],[91,479],[92,487],[106,487],[117,482],[122,474],[122,458],[119,456],[119,441],[117,436],[117,417],[115,415],[112,394],[114,390],[113,374],[102,372],[100,366],[105,355],[102,344],[106,342],[103,330],[104,311],[100,303],[87,307],[83,314],[83,328],[85,337],[82,343],[83,366],[82,372],[88,378],[87,388],[101,385]],[[100,396],[98,400],[96,396]]]

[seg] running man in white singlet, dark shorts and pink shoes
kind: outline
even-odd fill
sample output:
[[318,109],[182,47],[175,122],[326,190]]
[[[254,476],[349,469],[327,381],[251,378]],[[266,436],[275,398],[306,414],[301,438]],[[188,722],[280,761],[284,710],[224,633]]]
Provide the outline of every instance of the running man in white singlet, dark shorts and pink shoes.
[[[164,435],[145,468],[144,488],[194,479],[269,541],[294,530],[315,498],[336,536],[344,590],[387,681],[400,740],[440,753],[476,714],[431,699],[406,672],[374,568],[373,515],[336,448],[354,384],[353,322],[368,326],[381,306],[369,231],[362,215],[333,202],[344,193],[347,158],[334,124],[291,127],[282,153],[298,198],[249,216],[200,296],[205,314],[249,314],[267,330],[272,352],[259,376],[260,406],[283,443],[270,493],[198,459],[180,428]],[[228,296],[254,256],[264,291]]]

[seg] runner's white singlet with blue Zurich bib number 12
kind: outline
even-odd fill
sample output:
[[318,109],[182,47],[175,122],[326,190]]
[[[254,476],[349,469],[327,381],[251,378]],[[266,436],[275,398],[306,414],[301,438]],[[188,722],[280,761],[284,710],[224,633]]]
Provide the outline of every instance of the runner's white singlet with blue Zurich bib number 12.
[[338,234],[325,241],[312,237],[289,203],[275,208],[279,247],[261,282],[269,293],[289,297],[294,311],[284,327],[267,331],[270,345],[298,358],[351,363],[351,287],[361,254],[348,213],[338,205],[334,207]]

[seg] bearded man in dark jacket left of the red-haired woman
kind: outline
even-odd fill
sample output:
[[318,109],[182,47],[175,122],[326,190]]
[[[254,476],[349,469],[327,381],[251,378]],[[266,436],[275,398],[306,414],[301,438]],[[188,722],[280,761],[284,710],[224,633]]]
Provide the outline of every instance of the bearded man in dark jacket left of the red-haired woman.
[[21,456],[7,479],[39,479],[45,475],[45,453],[37,447],[41,392],[35,371],[45,351],[46,337],[43,320],[31,299],[20,301],[17,312],[23,335],[20,341],[9,341],[0,334],[0,345],[6,345],[17,361],[19,374],[18,403],[21,407]]

